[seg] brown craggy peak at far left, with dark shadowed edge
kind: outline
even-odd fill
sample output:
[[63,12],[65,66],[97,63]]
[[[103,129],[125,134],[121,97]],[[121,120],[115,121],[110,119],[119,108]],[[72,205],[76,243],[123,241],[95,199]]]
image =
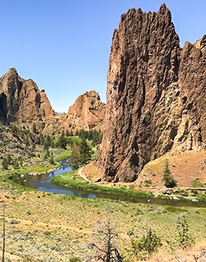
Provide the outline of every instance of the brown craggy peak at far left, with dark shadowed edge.
[[45,119],[56,113],[47,99],[44,90],[31,79],[19,77],[15,68],[10,68],[0,79],[0,121],[9,124],[13,121],[38,123],[45,126]]

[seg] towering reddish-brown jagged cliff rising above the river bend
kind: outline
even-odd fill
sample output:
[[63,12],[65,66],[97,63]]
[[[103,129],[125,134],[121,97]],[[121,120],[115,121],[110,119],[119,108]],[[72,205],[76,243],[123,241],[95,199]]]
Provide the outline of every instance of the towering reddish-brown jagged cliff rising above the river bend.
[[107,181],[134,181],[148,161],[206,145],[206,36],[179,47],[165,4],[128,10],[113,34],[107,110],[95,166]]

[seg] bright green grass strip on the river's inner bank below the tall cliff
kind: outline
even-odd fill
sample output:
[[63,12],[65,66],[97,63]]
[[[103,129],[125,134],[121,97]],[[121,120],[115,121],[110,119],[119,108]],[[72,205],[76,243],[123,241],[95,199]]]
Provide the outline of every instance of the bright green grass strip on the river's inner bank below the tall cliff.
[[52,183],[56,183],[58,185],[65,185],[69,188],[78,188],[80,190],[89,190],[96,192],[105,192],[112,194],[126,194],[126,195],[136,195],[136,196],[144,196],[144,197],[152,197],[152,194],[144,191],[137,191],[133,188],[108,188],[101,185],[95,185],[93,183],[88,183],[83,179],[79,179],[76,175],[76,171],[72,171],[65,174],[60,174],[56,177],[52,177]]

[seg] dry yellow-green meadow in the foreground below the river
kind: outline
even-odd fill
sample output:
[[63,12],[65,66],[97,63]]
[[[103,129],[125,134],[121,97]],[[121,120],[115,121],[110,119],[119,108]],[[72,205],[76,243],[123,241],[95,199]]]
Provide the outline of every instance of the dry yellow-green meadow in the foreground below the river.
[[[194,246],[205,244],[205,208],[78,199],[69,195],[35,191],[20,193],[15,188],[3,192],[2,210],[3,201],[7,261],[69,261],[75,257],[80,261],[92,261],[93,250],[89,248],[89,243],[94,241],[96,223],[103,223],[106,219],[117,223],[117,246],[125,256],[126,248],[130,245],[128,230],[133,230],[138,239],[145,225],[149,225],[161,238],[163,245],[159,256],[165,259],[174,256],[167,241],[175,243],[176,223],[183,214],[195,239]],[[32,223],[33,219],[36,219],[36,223]],[[3,211],[0,225],[3,228]],[[3,238],[0,239],[2,245]],[[158,261],[158,254],[155,257],[154,261]]]

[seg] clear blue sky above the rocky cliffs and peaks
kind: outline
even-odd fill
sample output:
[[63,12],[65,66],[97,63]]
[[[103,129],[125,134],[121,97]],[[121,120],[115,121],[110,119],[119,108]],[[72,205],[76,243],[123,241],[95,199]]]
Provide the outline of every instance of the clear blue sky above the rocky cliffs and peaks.
[[44,89],[56,112],[67,112],[89,90],[106,102],[113,31],[130,8],[172,12],[181,39],[206,34],[205,0],[0,0],[0,76],[16,68]]

